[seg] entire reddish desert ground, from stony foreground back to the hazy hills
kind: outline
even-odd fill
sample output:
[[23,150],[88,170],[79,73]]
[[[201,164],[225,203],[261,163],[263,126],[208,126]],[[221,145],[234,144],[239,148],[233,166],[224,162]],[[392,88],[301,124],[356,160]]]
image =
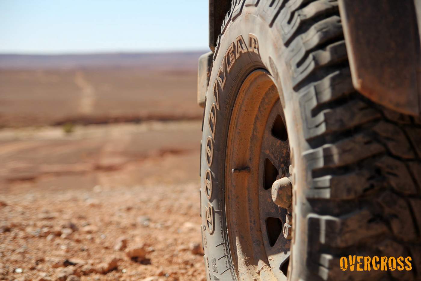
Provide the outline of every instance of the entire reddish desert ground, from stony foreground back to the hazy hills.
[[3,64],[1,280],[205,280],[198,55],[171,57]]

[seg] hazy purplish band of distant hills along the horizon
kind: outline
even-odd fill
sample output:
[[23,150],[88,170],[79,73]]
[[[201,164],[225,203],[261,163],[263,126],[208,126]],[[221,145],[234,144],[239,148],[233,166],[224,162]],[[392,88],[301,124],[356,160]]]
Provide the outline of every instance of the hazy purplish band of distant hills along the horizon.
[[152,68],[196,69],[197,59],[206,51],[171,53],[109,53],[109,54],[0,54],[0,69],[97,69]]

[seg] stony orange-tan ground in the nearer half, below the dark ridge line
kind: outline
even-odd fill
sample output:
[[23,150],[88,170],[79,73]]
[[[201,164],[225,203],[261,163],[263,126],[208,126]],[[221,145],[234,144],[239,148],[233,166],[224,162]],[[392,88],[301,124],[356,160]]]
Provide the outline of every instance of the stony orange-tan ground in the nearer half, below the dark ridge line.
[[200,126],[0,130],[0,279],[205,280]]

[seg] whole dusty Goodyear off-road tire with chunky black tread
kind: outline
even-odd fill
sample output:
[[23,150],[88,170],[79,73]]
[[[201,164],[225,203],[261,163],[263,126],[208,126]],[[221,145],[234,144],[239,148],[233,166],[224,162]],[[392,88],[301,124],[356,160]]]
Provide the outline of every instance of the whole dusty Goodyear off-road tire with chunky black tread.
[[[336,1],[236,0],[218,38],[202,127],[208,280],[267,278],[262,262],[238,254],[241,239],[258,244],[261,234],[229,237],[226,216],[233,109],[246,78],[261,69],[279,92],[293,165],[288,279],[420,278],[420,120],[355,92]],[[410,256],[412,270],[342,271],[339,259],[348,255]]]

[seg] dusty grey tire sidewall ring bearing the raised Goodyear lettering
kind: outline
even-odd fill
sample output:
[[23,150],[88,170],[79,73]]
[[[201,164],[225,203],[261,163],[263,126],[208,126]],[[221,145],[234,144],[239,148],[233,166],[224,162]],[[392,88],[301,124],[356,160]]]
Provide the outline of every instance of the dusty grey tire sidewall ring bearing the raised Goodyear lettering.
[[[307,144],[303,143],[303,135],[301,130],[300,108],[298,106],[298,97],[292,95],[291,79],[289,77],[289,71],[285,64],[285,54],[283,52],[284,47],[280,43],[280,35],[276,33],[277,30],[273,30],[269,25],[260,19],[258,16],[253,14],[240,15],[235,21],[229,22],[224,34],[221,36],[218,48],[214,54],[213,65],[210,72],[210,79],[208,85],[208,93],[206,96],[205,114],[203,119],[203,136],[201,146],[201,216],[202,216],[202,237],[203,247],[205,250],[205,265],[206,275],[208,280],[235,280],[236,273],[233,266],[233,257],[229,251],[229,239],[226,229],[226,214],[225,214],[225,158],[226,158],[226,147],[227,147],[227,136],[229,130],[230,119],[232,115],[232,109],[237,97],[237,93],[242,85],[242,81],[251,73],[253,70],[264,68],[268,70],[277,86],[278,92],[280,92],[281,104],[285,113],[285,121],[287,123],[288,138],[290,143],[291,163],[294,165],[294,185],[306,186],[306,169],[298,169],[297,167],[305,167],[301,157],[301,151]],[[272,33],[274,32],[274,33]],[[222,63],[226,64],[227,50],[239,35],[242,35],[246,45],[249,46],[249,35],[254,35],[258,41],[258,52],[248,51],[242,53],[240,57],[236,58],[232,62],[230,70],[227,70],[225,65],[225,83],[224,88],[221,88],[221,84],[218,84],[218,94],[214,95],[213,86],[217,81],[218,72],[222,66]],[[216,110],[215,110],[216,108]],[[246,110],[246,109],[240,109]],[[211,121],[211,115],[215,114],[216,120],[213,124]],[[210,125],[209,125],[210,124]],[[209,157],[207,155],[208,140],[212,141],[212,161],[208,165]],[[210,146],[209,146],[210,147]],[[206,171],[209,170],[207,173]],[[206,175],[211,175],[212,193],[210,199],[208,199],[206,190]],[[302,195],[303,190],[294,190],[294,206],[301,202],[297,199],[297,196]],[[208,192],[209,194],[209,192]],[[300,196],[304,198],[303,196]],[[294,211],[298,211],[295,209]],[[208,230],[207,224],[209,225],[208,219],[209,214],[212,215],[213,219],[213,231]],[[303,212],[300,212],[300,216],[304,216]],[[305,231],[305,224],[298,224],[297,217],[293,217],[293,223],[295,224],[294,232]],[[303,220],[300,220],[303,221]],[[294,239],[295,238],[295,239]],[[298,237],[293,238],[293,245]],[[305,242],[305,241],[303,241]],[[296,244],[296,243],[295,243]],[[304,245],[303,245],[304,246]],[[301,248],[301,247],[300,247]],[[300,251],[301,249],[296,249]],[[292,256],[294,258],[294,256]],[[295,257],[298,259],[298,256]],[[297,262],[299,262],[297,260]],[[222,275],[221,275],[222,273]]]

